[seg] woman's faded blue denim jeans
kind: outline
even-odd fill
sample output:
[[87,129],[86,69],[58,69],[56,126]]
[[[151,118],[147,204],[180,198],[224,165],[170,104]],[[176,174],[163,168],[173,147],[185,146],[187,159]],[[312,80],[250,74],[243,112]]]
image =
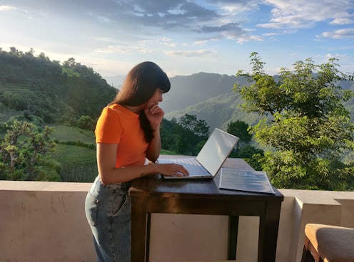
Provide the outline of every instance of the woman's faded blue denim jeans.
[[85,211],[91,226],[98,262],[131,261],[131,201],[129,183],[101,183],[96,177]]

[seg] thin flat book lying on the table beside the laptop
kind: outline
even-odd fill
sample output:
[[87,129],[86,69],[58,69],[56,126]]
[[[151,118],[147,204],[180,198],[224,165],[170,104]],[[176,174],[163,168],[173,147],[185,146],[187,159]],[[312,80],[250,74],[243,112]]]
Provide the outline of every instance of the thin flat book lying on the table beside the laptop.
[[264,171],[221,168],[219,188],[275,194],[268,175]]

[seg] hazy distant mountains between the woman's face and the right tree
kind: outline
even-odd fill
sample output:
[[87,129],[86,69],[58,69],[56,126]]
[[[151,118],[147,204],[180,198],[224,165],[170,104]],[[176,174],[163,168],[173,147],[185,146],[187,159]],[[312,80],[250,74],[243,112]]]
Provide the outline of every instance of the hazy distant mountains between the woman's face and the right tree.
[[[106,77],[108,83],[119,88],[123,77]],[[119,82],[121,81],[121,82]],[[167,120],[178,119],[185,114],[196,115],[199,120],[206,120],[214,127],[226,130],[228,122],[241,120],[248,125],[255,125],[260,117],[255,113],[244,112],[240,95],[233,91],[233,85],[246,85],[246,78],[216,73],[195,73],[170,78],[171,90],[163,95],[161,108]],[[342,82],[343,89],[353,89],[353,82]],[[354,117],[353,103],[348,108]]]

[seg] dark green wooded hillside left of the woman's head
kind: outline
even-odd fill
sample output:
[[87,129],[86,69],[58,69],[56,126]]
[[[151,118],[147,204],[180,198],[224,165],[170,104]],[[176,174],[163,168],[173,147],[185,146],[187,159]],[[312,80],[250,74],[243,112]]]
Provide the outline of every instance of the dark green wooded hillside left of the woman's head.
[[60,64],[33,53],[0,49],[2,112],[14,110],[39,116],[46,123],[72,124],[81,115],[96,119],[116,95],[116,88],[74,58]]

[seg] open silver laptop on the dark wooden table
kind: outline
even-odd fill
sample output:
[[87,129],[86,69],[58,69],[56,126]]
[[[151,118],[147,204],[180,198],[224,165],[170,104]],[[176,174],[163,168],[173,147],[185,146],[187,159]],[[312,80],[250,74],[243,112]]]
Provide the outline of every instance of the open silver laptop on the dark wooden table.
[[223,162],[236,147],[239,138],[216,128],[196,157],[159,158],[158,163],[181,164],[189,175],[183,177],[164,176],[165,179],[213,178]]

